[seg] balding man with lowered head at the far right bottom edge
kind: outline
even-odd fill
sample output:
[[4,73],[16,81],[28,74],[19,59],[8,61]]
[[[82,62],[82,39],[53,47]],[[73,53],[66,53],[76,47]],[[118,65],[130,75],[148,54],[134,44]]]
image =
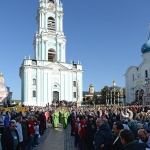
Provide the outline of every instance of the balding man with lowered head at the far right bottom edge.
[[138,131],[139,143],[146,143],[150,147],[150,136],[145,129]]

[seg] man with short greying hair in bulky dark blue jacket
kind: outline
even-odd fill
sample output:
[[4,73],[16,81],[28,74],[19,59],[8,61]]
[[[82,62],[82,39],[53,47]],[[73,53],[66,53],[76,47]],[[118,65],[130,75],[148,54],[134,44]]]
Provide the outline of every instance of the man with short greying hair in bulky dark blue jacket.
[[[103,122],[103,119],[98,118],[96,120],[97,132],[94,135],[94,150],[99,150],[100,146],[106,141],[110,140],[111,130],[107,123]],[[105,148],[104,150],[108,150],[109,148]]]

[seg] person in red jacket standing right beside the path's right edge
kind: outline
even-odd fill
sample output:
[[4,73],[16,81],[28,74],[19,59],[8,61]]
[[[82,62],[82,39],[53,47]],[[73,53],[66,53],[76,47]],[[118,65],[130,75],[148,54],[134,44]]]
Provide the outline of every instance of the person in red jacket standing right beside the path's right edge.
[[75,133],[74,146],[77,147],[79,135],[78,135],[78,119],[76,117],[73,120],[73,131]]

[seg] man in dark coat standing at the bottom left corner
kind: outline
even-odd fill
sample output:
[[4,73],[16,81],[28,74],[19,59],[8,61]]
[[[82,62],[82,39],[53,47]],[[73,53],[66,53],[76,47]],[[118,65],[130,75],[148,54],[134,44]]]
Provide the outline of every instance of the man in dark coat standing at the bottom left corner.
[[3,150],[19,150],[19,136],[15,128],[15,122],[11,121],[2,133],[1,144]]

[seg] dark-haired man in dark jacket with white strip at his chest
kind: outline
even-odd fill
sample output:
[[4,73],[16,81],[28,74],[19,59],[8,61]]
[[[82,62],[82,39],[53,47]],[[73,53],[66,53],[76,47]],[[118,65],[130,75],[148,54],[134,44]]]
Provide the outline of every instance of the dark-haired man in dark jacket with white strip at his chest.
[[109,140],[105,144],[102,144],[101,149],[108,147],[110,150],[124,150],[124,146],[122,145],[119,137],[119,133],[122,129],[124,129],[123,124],[121,122],[115,122],[113,125],[115,138],[112,141]]

